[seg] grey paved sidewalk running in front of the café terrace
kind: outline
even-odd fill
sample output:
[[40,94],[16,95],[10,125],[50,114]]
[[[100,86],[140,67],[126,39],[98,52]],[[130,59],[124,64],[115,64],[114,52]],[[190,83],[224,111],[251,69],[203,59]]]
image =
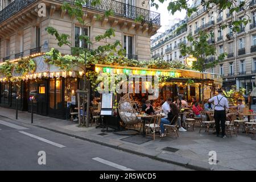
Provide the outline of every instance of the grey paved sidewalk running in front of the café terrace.
[[[130,136],[113,133],[99,135],[102,134],[101,129],[96,129],[95,126],[89,128],[77,127],[77,123],[71,123],[67,120],[34,114],[34,123],[31,124],[31,113],[22,111],[19,111],[18,120],[16,120],[15,110],[13,109],[0,107],[0,117],[9,118],[9,121],[14,123],[22,122],[42,127],[118,150],[148,156],[149,158],[192,169],[256,170],[256,140],[252,140],[250,135],[246,136],[241,132],[238,133],[238,137],[233,136],[223,139],[212,133],[208,135],[204,130],[199,133],[199,127],[196,127],[195,131],[180,132],[177,139],[175,137],[164,139],[156,137],[155,141],[150,140],[142,144],[135,144],[121,140]],[[176,149],[177,151],[163,150],[166,147],[172,147],[171,150]],[[217,165],[208,163],[209,151],[217,152]]]

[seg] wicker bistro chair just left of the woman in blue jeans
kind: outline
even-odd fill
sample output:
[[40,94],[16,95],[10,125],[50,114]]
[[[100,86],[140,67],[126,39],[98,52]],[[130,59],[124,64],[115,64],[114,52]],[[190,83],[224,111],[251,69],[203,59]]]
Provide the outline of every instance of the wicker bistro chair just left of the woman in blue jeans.
[[151,135],[155,140],[155,133],[160,130],[160,122],[162,115],[157,114],[151,119],[151,123],[145,125],[146,136]]

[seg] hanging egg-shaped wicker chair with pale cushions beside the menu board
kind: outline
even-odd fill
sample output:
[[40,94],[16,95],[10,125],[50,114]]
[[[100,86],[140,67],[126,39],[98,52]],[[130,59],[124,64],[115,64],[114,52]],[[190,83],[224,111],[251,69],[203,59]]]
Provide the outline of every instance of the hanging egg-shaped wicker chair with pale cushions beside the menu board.
[[118,112],[125,127],[127,125],[136,125],[141,122],[141,118],[137,117],[137,113],[139,113],[138,107],[129,94],[125,94],[120,98],[118,103]]

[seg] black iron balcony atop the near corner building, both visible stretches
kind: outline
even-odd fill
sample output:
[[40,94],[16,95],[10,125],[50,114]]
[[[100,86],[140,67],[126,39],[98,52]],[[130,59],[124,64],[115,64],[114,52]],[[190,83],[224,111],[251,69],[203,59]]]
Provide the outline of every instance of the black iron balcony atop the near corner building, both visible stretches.
[[[0,11],[0,23],[35,1],[36,0],[15,0],[14,2],[10,3],[9,6]],[[71,3],[73,2],[72,0],[67,1]],[[130,19],[136,19],[137,17],[142,16],[144,22],[160,26],[160,14],[154,11],[142,9],[140,7],[131,6],[129,4],[113,0],[101,0],[101,4],[96,6],[93,6],[91,2],[92,0],[89,0],[88,3],[84,5],[84,7],[102,12],[105,12],[106,10],[112,10],[115,15]]]

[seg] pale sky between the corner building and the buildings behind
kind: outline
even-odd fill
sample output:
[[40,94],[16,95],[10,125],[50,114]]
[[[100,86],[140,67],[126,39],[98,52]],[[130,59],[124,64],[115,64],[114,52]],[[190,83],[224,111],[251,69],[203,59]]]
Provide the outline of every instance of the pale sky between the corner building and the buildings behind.
[[155,36],[158,36],[160,33],[163,33],[168,28],[170,28],[172,25],[174,25],[175,23],[178,23],[179,20],[183,20],[186,15],[185,10],[181,10],[181,12],[176,11],[176,13],[174,15],[169,13],[167,10],[167,6],[168,6],[168,2],[170,2],[170,0],[164,1],[164,3],[160,3],[159,1],[156,1],[156,2],[159,5],[158,10],[156,10],[155,7],[150,7],[150,10],[160,13],[160,22],[161,22],[162,27],[158,30],[158,34],[155,34],[154,36],[152,36],[153,39]]

